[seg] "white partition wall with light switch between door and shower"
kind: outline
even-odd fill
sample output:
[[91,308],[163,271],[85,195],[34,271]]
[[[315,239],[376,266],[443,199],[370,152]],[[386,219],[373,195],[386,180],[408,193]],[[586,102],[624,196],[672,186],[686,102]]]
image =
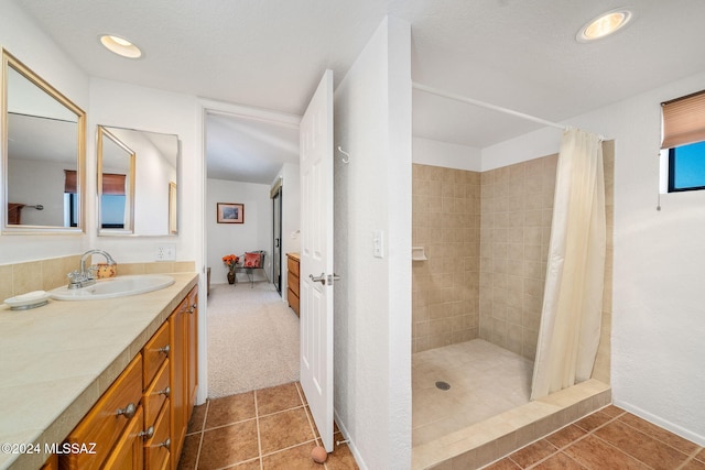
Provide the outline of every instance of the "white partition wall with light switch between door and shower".
[[386,19],[335,91],[334,401],[369,469],[411,466],[410,53],[410,24]]

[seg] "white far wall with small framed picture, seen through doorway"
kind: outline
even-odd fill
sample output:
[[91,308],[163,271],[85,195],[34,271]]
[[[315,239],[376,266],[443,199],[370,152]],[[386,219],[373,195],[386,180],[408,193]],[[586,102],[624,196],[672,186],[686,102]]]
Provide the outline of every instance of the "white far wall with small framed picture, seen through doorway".
[[[210,284],[226,284],[226,254],[242,255],[246,251],[264,250],[265,269],[271,276],[272,253],[272,199],[270,186],[254,183],[228,182],[208,178],[206,182],[207,265]],[[218,223],[217,203],[245,205],[245,223]],[[262,270],[253,270],[256,280],[265,280]],[[238,273],[238,282],[247,281],[246,273]]]

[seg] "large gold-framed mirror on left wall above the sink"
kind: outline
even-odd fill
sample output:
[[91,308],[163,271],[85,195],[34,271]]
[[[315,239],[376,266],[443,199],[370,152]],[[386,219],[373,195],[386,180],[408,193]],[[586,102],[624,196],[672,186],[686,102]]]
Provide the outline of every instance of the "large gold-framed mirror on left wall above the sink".
[[2,51],[3,233],[82,233],[86,113]]

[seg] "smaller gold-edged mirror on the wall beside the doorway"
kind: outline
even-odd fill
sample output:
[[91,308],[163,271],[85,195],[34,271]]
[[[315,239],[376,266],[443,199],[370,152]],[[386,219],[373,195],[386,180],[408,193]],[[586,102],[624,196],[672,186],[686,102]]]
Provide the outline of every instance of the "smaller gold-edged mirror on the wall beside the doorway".
[[175,236],[178,136],[98,125],[98,234]]

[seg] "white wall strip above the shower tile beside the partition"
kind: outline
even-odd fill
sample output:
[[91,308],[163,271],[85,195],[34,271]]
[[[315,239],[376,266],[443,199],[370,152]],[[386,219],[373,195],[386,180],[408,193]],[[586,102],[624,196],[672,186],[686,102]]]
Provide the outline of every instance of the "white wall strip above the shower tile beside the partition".
[[413,163],[479,172],[482,151],[467,145],[413,138]]

